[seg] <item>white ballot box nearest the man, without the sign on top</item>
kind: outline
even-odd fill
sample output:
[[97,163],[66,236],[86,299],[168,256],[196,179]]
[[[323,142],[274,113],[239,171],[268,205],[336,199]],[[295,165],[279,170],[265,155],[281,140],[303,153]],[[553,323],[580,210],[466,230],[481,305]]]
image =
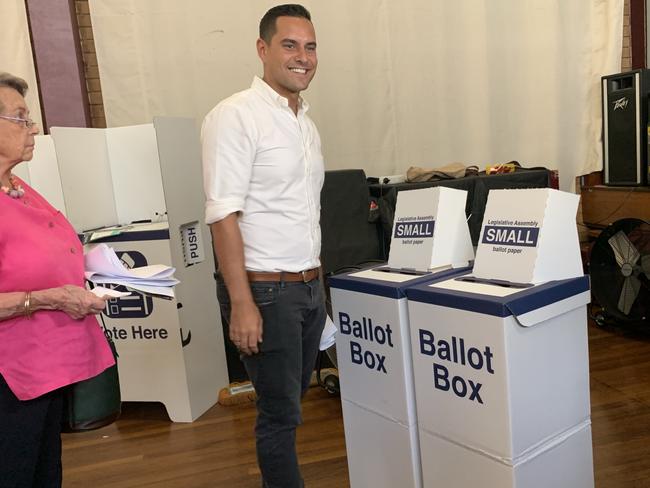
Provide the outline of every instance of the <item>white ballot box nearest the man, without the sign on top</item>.
[[404,288],[466,272],[382,267],[330,278],[350,486],[421,487]]

